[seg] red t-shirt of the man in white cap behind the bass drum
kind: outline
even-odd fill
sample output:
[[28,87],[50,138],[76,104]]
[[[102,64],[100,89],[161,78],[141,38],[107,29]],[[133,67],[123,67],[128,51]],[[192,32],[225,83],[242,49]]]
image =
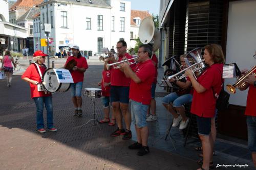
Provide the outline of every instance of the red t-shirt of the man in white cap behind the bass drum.
[[[76,58],[76,57],[73,57],[73,56],[70,56],[65,65],[70,61],[70,60],[75,60],[77,62],[77,67],[78,68],[88,68],[88,64],[87,64],[87,61],[86,61],[86,58],[84,57],[79,57],[79,58]],[[78,70],[75,70],[75,71],[72,71],[71,72],[71,75],[72,75],[72,78],[73,78],[73,81],[74,83],[77,83],[77,82],[83,82],[83,75],[84,75],[84,72],[80,72]]]

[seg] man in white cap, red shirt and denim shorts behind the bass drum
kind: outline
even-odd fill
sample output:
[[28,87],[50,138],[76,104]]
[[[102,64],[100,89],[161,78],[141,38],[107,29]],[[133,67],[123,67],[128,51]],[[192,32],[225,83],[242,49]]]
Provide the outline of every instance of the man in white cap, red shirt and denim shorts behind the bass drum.
[[73,56],[70,56],[66,64],[71,61],[75,60],[77,62],[77,65],[73,67],[73,71],[71,72],[72,78],[74,83],[71,83],[71,95],[72,95],[72,102],[75,107],[74,110],[74,116],[81,117],[82,116],[82,83],[83,83],[83,77],[84,72],[86,72],[86,69],[88,68],[88,64],[86,61],[86,58],[82,57],[79,46],[75,45],[71,48]]

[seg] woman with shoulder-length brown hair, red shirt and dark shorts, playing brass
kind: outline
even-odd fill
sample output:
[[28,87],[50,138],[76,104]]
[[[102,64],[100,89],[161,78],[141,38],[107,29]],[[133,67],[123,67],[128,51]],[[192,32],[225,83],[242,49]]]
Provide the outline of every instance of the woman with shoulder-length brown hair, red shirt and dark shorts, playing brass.
[[203,58],[209,67],[198,79],[194,77],[191,70],[185,71],[185,75],[189,77],[194,88],[190,112],[197,115],[198,134],[203,148],[203,160],[198,161],[202,167],[198,170],[208,170],[210,166],[214,166],[212,162],[214,140],[211,132],[211,119],[215,118],[216,101],[222,89],[222,70],[225,62],[220,45],[210,44],[204,48]]

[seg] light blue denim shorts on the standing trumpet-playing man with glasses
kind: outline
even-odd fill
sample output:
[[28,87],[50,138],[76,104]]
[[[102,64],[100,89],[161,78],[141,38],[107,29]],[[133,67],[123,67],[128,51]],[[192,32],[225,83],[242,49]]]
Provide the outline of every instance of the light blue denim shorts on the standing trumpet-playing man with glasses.
[[136,125],[137,128],[147,126],[146,114],[148,107],[148,105],[143,105],[142,103],[131,100],[132,123]]

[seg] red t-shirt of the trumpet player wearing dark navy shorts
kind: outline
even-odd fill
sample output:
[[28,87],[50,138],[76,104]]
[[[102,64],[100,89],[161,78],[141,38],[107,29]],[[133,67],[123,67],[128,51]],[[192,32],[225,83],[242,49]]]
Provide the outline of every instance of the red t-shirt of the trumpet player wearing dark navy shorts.
[[[133,58],[128,53],[125,53],[123,56],[118,56],[118,61],[121,61],[123,57],[126,57],[127,59]],[[130,60],[129,62],[134,62],[134,60]],[[130,66],[133,67],[134,64]],[[124,72],[120,71],[119,69],[114,69],[113,66],[111,67],[111,86],[129,87],[130,82],[131,78],[126,78]]]

